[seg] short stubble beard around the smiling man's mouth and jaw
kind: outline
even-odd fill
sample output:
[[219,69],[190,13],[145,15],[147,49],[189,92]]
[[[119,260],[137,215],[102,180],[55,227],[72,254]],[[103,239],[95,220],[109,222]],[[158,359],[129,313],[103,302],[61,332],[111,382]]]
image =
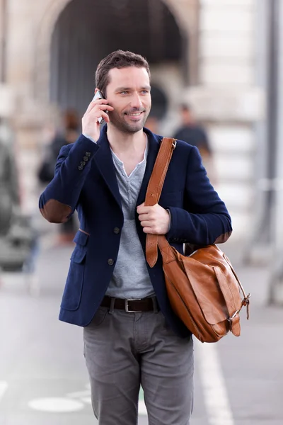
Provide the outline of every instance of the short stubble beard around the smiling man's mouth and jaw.
[[[141,112],[141,118],[137,122],[127,118],[129,114],[138,112]],[[129,111],[124,111],[122,113],[112,111],[109,113],[110,123],[121,132],[132,134],[144,128],[144,123],[149,116],[149,112],[150,108],[148,110],[146,110],[146,108],[131,108]]]

